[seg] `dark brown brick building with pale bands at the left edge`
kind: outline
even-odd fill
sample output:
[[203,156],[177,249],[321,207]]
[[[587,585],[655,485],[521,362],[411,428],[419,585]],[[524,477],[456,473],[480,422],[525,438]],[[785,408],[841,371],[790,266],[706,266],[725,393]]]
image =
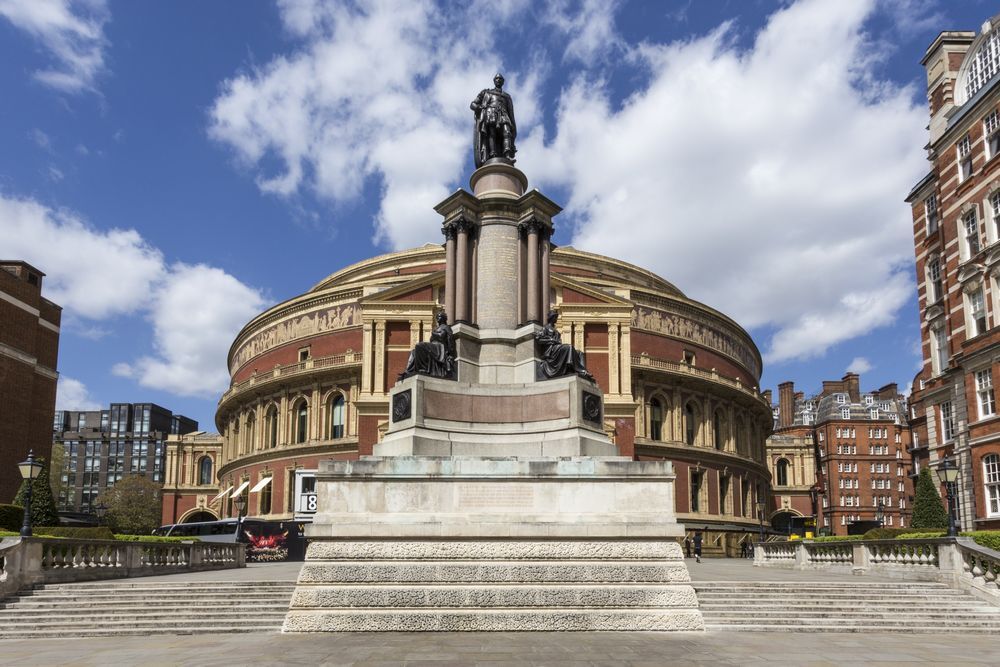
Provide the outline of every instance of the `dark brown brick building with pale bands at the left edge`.
[[48,455],[62,308],[42,296],[35,267],[0,260],[0,269],[0,503],[9,503],[28,450]]

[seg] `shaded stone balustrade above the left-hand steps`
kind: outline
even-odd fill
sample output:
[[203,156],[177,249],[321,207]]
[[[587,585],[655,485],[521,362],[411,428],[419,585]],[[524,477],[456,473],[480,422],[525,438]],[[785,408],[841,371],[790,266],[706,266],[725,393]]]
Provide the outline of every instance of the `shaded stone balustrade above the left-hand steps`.
[[32,586],[246,567],[246,546],[46,537],[0,540],[0,599]]

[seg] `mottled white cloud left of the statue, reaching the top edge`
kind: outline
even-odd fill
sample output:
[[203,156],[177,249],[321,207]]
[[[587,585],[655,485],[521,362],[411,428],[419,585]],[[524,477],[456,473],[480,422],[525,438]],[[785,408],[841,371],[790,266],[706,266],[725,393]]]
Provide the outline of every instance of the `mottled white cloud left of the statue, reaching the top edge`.
[[[493,15],[511,20],[526,6]],[[455,39],[449,12],[428,0],[279,7],[301,48],[226,81],[210,110],[210,136],[256,171],[266,193],[311,189],[346,202],[378,179],[375,237],[397,248],[425,243],[436,230],[433,206],[471,154],[469,102],[498,65],[490,31]],[[455,13],[457,21],[468,16]],[[517,107],[519,125],[530,125],[536,78],[505,76],[526,101]]]

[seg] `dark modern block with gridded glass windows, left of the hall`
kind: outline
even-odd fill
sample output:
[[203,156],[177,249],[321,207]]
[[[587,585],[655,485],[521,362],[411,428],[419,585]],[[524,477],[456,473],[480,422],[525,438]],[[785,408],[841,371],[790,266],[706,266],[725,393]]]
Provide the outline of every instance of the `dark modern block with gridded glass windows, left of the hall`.
[[49,428],[59,511],[88,515],[101,491],[126,475],[164,482],[168,436],[197,431],[198,422],[155,403],[112,403],[107,410],[60,410]]

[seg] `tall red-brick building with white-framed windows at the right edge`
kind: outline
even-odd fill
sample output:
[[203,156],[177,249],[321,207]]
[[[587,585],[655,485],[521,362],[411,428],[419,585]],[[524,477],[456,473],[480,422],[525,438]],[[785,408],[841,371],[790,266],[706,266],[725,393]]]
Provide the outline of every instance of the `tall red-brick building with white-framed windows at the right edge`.
[[954,457],[963,530],[1000,528],[1000,15],[981,31],[942,32],[927,70],[929,172],[906,201],[923,368],[910,398],[913,455]]

